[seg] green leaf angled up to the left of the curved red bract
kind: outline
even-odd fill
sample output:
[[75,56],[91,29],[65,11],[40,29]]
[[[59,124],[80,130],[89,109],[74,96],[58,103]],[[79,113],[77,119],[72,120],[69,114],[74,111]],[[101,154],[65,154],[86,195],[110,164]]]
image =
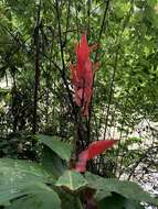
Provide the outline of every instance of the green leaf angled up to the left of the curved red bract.
[[71,145],[59,141],[56,136],[36,135],[38,140],[44,145],[49,146],[54,153],[56,153],[62,160],[70,161],[71,158]]

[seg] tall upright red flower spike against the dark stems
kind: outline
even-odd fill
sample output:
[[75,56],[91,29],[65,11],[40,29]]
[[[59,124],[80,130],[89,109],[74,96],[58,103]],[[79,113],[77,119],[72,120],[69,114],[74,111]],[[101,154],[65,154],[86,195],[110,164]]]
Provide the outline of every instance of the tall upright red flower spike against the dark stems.
[[75,102],[82,107],[83,116],[88,117],[88,106],[93,94],[93,70],[86,35],[82,35],[81,42],[76,44],[76,65],[71,65],[71,77],[75,90]]

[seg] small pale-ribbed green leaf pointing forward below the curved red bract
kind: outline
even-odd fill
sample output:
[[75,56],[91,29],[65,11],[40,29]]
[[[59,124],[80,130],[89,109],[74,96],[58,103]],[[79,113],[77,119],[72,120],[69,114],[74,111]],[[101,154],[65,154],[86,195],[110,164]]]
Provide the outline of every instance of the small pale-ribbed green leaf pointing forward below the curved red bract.
[[74,170],[64,172],[64,174],[59,178],[55,184],[55,186],[64,186],[73,191],[85,187],[86,185],[87,182],[85,180],[85,178],[80,173]]

